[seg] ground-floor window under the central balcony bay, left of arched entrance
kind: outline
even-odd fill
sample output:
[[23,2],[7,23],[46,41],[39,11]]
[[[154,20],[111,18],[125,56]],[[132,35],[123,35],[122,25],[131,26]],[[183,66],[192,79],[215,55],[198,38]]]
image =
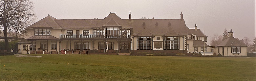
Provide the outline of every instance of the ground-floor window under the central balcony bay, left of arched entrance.
[[114,49],[115,42],[99,42],[99,49]]

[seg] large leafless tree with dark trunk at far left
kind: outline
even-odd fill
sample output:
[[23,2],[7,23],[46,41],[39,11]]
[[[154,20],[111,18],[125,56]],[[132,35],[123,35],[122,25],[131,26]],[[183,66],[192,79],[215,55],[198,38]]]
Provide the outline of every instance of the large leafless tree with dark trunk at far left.
[[8,49],[7,31],[20,33],[33,23],[35,14],[29,0],[0,0],[0,25],[4,27],[5,49]]

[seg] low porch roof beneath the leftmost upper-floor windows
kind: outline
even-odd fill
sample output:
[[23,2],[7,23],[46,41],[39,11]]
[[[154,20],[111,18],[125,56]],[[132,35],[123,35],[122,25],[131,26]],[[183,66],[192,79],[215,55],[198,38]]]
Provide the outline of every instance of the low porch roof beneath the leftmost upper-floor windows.
[[34,35],[27,40],[59,40],[58,38],[51,35]]

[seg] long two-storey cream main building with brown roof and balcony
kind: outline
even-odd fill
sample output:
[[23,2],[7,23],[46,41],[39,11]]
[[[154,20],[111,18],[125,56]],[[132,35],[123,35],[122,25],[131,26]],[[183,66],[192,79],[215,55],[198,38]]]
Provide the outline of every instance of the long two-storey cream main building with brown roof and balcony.
[[[127,15],[128,17],[128,15]],[[29,43],[20,53],[61,50],[89,53],[187,53],[211,52],[207,36],[180,19],[121,19],[110,13],[104,19],[56,19],[50,15],[25,28]]]

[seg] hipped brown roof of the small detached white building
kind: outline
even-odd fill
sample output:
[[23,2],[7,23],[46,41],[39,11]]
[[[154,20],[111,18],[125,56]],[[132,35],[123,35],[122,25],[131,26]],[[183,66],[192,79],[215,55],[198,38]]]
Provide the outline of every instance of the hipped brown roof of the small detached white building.
[[225,39],[223,42],[218,44],[216,47],[222,47],[222,46],[246,46],[243,42],[240,42],[234,37],[229,37]]

